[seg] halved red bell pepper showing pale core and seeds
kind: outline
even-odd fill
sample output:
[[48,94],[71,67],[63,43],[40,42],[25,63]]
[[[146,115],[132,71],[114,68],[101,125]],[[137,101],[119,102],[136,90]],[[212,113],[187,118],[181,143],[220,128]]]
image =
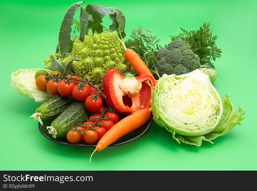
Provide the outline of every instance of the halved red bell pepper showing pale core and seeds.
[[103,93],[106,104],[121,115],[129,115],[138,109],[151,107],[151,87],[154,79],[148,74],[140,74],[137,77],[125,75],[116,69],[108,70],[103,77]]

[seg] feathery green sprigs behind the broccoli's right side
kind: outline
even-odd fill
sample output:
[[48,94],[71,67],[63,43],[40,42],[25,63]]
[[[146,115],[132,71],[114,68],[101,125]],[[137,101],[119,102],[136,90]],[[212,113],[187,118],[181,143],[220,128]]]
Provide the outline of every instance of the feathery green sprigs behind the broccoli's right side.
[[214,64],[211,60],[215,61],[221,55],[221,49],[216,46],[217,35],[212,34],[212,29],[210,29],[210,22],[205,22],[203,26],[200,26],[198,30],[187,31],[180,27],[182,32],[178,35],[171,36],[171,40],[176,39],[183,40],[187,42],[192,51],[197,54],[200,58],[200,63],[202,65],[210,65],[215,69]]

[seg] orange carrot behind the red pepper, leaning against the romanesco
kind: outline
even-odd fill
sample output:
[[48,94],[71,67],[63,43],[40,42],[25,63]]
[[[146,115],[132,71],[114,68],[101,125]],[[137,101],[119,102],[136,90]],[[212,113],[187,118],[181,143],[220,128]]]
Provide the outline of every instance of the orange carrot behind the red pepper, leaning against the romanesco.
[[144,61],[140,58],[140,56],[134,50],[128,48],[125,51],[125,58],[129,61],[131,66],[136,70],[138,74],[143,74],[143,73],[148,74],[154,79],[154,82],[156,85],[157,82],[154,76],[152,75],[152,72],[149,70],[149,68],[146,66]]

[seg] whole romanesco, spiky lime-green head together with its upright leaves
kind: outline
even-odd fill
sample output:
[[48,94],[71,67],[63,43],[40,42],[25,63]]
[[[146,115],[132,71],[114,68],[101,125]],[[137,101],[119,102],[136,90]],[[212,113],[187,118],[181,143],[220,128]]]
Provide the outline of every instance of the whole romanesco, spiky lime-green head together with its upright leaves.
[[[68,9],[63,23],[67,22],[66,17],[73,18],[75,8],[77,10],[81,2],[75,3]],[[105,15],[109,15],[112,20],[109,29],[102,25]],[[68,51],[64,55],[60,54],[59,50],[56,54],[50,53],[50,59],[45,60],[46,69],[59,70],[65,74],[72,71],[77,73],[79,78],[87,78],[98,85],[102,83],[103,76],[108,69],[115,68],[121,73],[135,72],[125,58],[124,47],[121,43],[121,38],[126,36],[125,16],[121,10],[88,4],[81,7],[79,18],[79,21],[73,21],[75,27],[72,36],[67,34],[62,38],[63,42],[69,42],[69,50],[68,43],[60,44],[58,46],[60,50]],[[71,24],[71,22],[68,23],[69,29],[71,29]],[[92,34],[89,33],[90,29]],[[80,32],[79,38],[78,32]]]

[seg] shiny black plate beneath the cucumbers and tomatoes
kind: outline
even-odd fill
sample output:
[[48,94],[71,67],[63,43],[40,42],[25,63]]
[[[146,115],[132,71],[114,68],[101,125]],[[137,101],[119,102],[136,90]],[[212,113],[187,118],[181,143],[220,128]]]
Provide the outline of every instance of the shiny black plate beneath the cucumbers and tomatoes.
[[[57,141],[55,139],[52,138],[52,136],[48,134],[48,130],[46,129],[47,126],[51,126],[52,121],[43,121],[44,125],[40,125],[40,123],[38,123],[38,127],[39,127],[39,131],[42,135],[44,135],[44,137],[46,137],[47,139],[49,139],[50,141],[53,141],[55,143],[60,143],[63,145],[73,145],[73,146],[81,146],[81,147],[95,147],[96,143],[93,144],[88,144],[85,141],[79,141],[78,143],[70,143],[68,141]],[[139,127],[138,129],[135,129],[134,131],[124,135],[123,137],[121,137],[120,139],[118,139],[116,142],[110,144],[110,146],[115,146],[115,145],[121,145],[124,143],[128,143],[130,141],[133,141],[135,139],[138,139],[140,136],[142,136],[143,134],[145,134],[148,129],[150,128],[150,126],[152,125],[153,122],[153,116],[151,116],[151,118],[141,127]]]

